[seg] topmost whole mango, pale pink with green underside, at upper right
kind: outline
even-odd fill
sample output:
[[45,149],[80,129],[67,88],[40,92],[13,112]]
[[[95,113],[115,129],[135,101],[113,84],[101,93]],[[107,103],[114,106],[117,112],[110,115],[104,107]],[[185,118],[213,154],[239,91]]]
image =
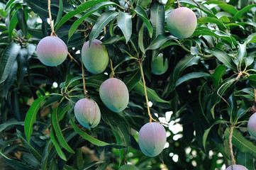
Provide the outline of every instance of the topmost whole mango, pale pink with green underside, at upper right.
[[177,38],[189,38],[196,30],[196,15],[187,7],[174,9],[167,16],[169,33]]

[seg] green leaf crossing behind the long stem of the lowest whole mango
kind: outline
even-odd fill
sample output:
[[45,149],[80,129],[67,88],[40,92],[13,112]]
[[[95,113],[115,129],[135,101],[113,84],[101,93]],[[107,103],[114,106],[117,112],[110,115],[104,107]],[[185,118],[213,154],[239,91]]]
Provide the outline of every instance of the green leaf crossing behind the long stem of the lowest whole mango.
[[[140,81],[138,81],[138,84],[136,84],[134,86],[134,89],[135,89],[135,91],[138,91],[140,94],[145,95],[143,81],[141,79],[140,79]],[[169,103],[169,101],[162,100],[162,98],[160,98],[160,96],[158,96],[157,93],[153,89],[146,87],[146,90],[147,90],[148,98],[150,100],[157,101],[160,103]]]

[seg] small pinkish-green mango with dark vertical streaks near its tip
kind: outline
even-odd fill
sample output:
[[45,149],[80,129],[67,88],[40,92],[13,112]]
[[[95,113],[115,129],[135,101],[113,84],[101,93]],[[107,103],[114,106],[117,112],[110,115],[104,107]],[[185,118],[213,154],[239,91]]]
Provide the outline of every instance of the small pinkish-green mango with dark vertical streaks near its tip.
[[84,128],[95,128],[101,120],[98,104],[91,98],[82,98],[74,105],[74,115]]

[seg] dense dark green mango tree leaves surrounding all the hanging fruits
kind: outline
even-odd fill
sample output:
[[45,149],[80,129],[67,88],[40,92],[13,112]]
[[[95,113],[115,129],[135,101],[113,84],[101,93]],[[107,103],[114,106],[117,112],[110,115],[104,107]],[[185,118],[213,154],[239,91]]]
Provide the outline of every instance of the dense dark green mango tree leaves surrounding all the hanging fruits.
[[[187,39],[167,30],[173,0],[145,8],[140,0],[52,0],[55,33],[77,62],[68,57],[47,67],[35,48],[52,32],[48,1],[1,1],[0,169],[118,169],[126,161],[138,169],[225,169],[230,125],[237,164],[255,169],[256,140],[247,131],[256,111],[255,1],[179,2],[197,17]],[[111,64],[101,74],[85,70],[87,94],[101,110],[99,125],[86,129],[74,118],[74,103],[84,97],[82,45],[94,39],[106,45],[129,103],[113,113],[101,102],[99,86],[113,74]],[[160,53],[167,72],[151,74]],[[138,131],[149,121],[141,61],[152,117],[169,124],[157,157],[138,147]]]

